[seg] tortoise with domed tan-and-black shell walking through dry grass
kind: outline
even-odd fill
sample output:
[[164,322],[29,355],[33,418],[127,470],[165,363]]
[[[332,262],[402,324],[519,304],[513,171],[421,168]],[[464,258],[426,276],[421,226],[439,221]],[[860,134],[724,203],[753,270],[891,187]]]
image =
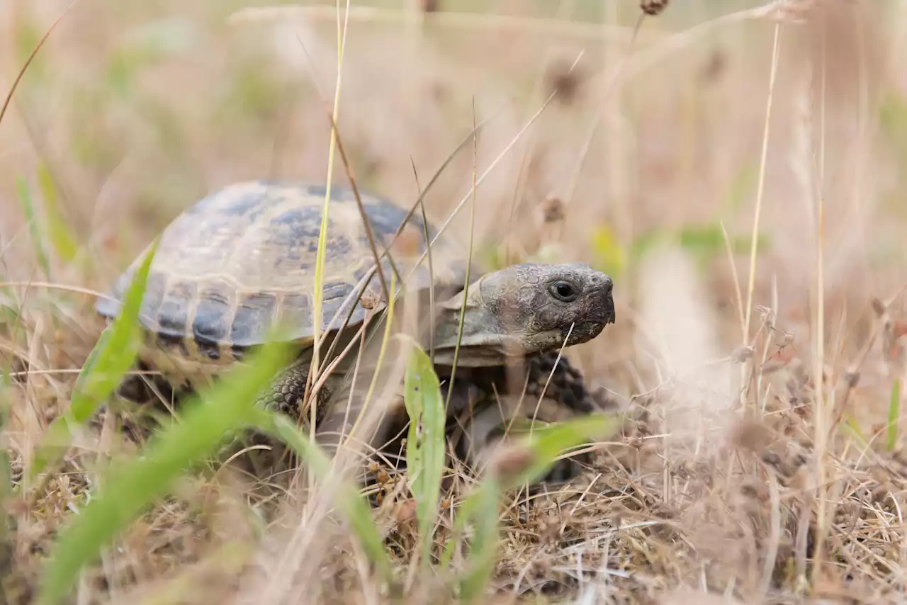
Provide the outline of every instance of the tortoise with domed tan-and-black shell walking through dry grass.
[[[299,406],[314,348],[312,294],[326,194],[320,184],[240,181],[211,192],[172,220],[161,233],[141,301],[140,362],[171,385],[197,388],[261,346],[279,321],[281,337],[297,346],[298,355],[258,403],[307,418]],[[418,213],[405,222],[409,213],[385,198],[363,192],[359,197],[380,251],[398,229],[398,242],[409,244],[391,248],[381,260],[385,284],[396,268],[407,292],[424,295],[434,288],[440,314],[432,345],[440,376],[448,376],[453,363],[463,306],[456,365],[467,372],[588,342],[615,320],[611,278],[584,263],[522,263],[488,273],[473,268],[463,291],[467,263],[453,239],[436,238],[434,226]],[[425,233],[433,242],[431,265],[417,263],[426,250]],[[366,314],[387,304],[352,189],[331,187],[327,234],[320,331],[348,341]],[[97,299],[95,309],[108,324],[148,250]],[[398,287],[394,295],[399,294]],[[346,327],[338,329],[345,319]],[[370,324],[370,329],[375,328]],[[344,366],[339,367],[317,393],[318,421],[339,392]],[[582,392],[581,377],[566,369],[561,376],[570,383],[567,392]]]

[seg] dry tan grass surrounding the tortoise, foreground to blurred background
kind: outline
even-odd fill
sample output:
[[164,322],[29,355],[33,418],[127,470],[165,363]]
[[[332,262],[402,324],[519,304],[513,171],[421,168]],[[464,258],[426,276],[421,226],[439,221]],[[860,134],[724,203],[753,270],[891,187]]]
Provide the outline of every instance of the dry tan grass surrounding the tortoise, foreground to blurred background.
[[[5,86],[68,3],[8,4]],[[907,5],[688,0],[634,36],[630,0],[496,3],[497,15],[354,4],[338,128],[358,186],[408,206],[413,167],[424,186],[472,128],[474,97],[477,119],[492,116],[475,170],[494,168],[476,190],[476,257],[583,259],[617,285],[617,325],[566,355],[633,420],[575,483],[513,496],[488,602],[907,602],[892,405],[907,332]],[[14,483],[101,330],[90,292],[209,190],[325,178],[334,7],[229,18],[254,6],[82,0],[24,74],[0,123]],[[429,218],[444,223],[472,182],[464,151],[426,197]],[[463,241],[469,220],[451,222]],[[113,415],[96,428],[40,490],[7,499],[10,602],[28,602],[98,454],[137,448]],[[392,468],[377,475],[405,579],[412,503]],[[454,474],[445,504],[472,477]],[[393,600],[344,525],[289,483],[233,462],[187,477],[72,602]],[[438,540],[450,526],[444,507]],[[417,582],[405,600],[434,590]]]

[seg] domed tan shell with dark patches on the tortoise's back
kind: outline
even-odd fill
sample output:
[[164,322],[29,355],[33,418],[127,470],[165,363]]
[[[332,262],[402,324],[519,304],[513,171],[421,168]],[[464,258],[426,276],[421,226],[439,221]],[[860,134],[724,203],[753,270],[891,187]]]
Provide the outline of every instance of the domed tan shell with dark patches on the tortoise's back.
[[[140,320],[157,346],[178,348],[184,356],[219,360],[225,351],[263,344],[276,321],[286,340],[310,345],[313,338],[314,288],[318,234],[326,195],[324,185],[288,181],[245,181],[227,186],[184,210],[161,234],[151,260],[141,302]],[[407,211],[388,200],[360,191],[378,253],[394,238]],[[410,291],[429,286],[463,285],[466,264],[453,240],[432,246],[432,272],[423,261],[424,222],[414,212],[390,249],[394,265]],[[429,238],[436,230],[428,225]],[[119,312],[145,249],[95,309],[108,319]],[[328,209],[321,330],[354,327],[384,307],[375,257],[356,197],[349,188],[332,186]],[[388,288],[392,265],[381,268]],[[473,273],[473,276],[477,276]],[[434,277],[434,283],[431,281]],[[395,294],[399,294],[399,279]],[[363,290],[364,288],[364,290]],[[335,317],[336,316],[336,317]]]

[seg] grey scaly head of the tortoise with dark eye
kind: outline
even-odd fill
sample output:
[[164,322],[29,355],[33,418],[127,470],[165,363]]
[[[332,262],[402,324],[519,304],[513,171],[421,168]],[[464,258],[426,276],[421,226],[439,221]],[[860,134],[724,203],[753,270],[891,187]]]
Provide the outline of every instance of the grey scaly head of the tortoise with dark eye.
[[458,366],[588,342],[614,323],[611,288],[608,275],[583,263],[527,263],[488,273],[442,306],[435,360],[453,363],[463,307]]

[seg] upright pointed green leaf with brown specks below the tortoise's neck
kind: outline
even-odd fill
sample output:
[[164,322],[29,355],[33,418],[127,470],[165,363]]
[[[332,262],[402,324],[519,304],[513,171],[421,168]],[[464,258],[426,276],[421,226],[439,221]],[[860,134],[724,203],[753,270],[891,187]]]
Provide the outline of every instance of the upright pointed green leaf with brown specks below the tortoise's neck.
[[406,364],[404,402],[409,415],[406,469],[418,519],[422,563],[431,561],[432,525],[438,513],[444,473],[444,403],[438,376],[421,346],[413,345]]

